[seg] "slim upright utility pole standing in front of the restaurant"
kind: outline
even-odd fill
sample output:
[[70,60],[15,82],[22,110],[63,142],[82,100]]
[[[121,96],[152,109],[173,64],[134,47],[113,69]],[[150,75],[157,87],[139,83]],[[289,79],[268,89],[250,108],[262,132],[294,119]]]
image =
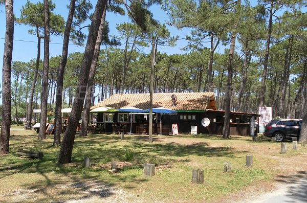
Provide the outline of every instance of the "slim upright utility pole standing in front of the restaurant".
[[151,71],[149,87],[149,143],[152,143],[152,89],[153,89],[153,71],[155,70],[155,37],[151,40]]

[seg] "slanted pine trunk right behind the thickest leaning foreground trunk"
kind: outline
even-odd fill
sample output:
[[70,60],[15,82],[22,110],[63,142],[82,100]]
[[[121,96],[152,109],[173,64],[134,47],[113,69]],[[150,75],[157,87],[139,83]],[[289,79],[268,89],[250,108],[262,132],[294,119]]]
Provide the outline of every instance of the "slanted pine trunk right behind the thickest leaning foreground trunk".
[[[81,137],[87,135],[87,125],[89,124],[89,120],[90,120],[90,108],[91,108],[94,76],[95,76],[96,66],[97,66],[97,62],[99,58],[100,45],[102,42],[102,32],[103,32],[103,27],[104,27],[105,14],[106,14],[106,4],[105,4],[105,7],[103,8],[103,15],[100,20],[101,22],[100,22],[98,37],[97,37],[97,41],[95,45],[94,56],[93,56],[93,60],[91,63],[89,81],[87,82],[87,87],[86,87],[85,103],[84,103],[84,108],[83,108],[83,117],[82,117],[81,129],[80,129]],[[103,93],[101,94],[101,97],[103,98]]]

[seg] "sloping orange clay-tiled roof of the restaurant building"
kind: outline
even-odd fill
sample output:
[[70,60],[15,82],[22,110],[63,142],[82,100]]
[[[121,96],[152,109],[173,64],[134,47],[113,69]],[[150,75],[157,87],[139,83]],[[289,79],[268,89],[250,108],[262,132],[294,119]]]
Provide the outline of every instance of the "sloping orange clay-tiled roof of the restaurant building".
[[[171,95],[176,95],[176,106],[172,105]],[[134,106],[149,108],[149,94],[115,94],[92,106],[91,109],[109,106],[116,109]],[[213,93],[153,93],[153,107],[165,107],[173,110],[205,110],[216,109]]]

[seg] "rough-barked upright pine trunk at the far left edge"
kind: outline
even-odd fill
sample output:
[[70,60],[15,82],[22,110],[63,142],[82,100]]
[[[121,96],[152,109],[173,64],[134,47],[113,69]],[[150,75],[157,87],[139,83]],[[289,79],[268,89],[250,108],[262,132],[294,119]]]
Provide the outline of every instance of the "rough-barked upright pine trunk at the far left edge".
[[2,70],[2,127],[0,134],[0,154],[9,153],[11,128],[11,71],[14,39],[13,0],[5,1],[6,32]]

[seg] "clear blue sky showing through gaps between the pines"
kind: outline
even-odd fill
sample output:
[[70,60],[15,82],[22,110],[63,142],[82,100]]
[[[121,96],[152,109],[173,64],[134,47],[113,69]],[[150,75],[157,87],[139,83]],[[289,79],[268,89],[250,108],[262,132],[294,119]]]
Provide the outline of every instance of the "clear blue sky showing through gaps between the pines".
[[[33,3],[37,3],[38,1],[31,1]],[[96,1],[92,1],[96,3]],[[14,15],[16,17],[20,16],[20,9],[23,5],[27,3],[27,0],[17,0],[14,1]],[[68,15],[68,8],[67,5],[69,4],[69,1],[59,1],[54,0],[53,3],[56,4],[56,9],[54,10],[54,13],[60,14],[63,16],[64,20],[67,19]],[[95,5],[93,5],[95,7]],[[4,37],[5,37],[5,10],[4,6],[1,6],[0,8],[0,64],[3,64],[3,51],[4,51]],[[166,19],[166,13],[160,9],[159,6],[153,6],[153,11],[155,11],[155,18],[158,19],[161,23],[165,22]],[[158,13],[158,15],[156,14]],[[130,21],[127,16],[121,16],[116,15],[114,13],[108,12],[106,14],[106,20],[109,22],[109,34],[119,36],[118,31],[116,30],[116,24],[120,24],[123,22]],[[166,27],[171,31],[172,35],[179,35],[179,36],[185,36],[189,34],[189,31],[178,31],[174,27],[170,27],[166,25]],[[14,26],[14,44],[13,44],[13,61],[30,61],[33,58],[36,58],[37,55],[37,37],[35,35],[30,35],[28,33],[28,30],[31,28],[29,26],[25,25],[18,25],[15,24]],[[52,36],[50,35],[51,43],[50,43],[50,57],[60,55],[62,52],[62,42],[63,38],[61,36]],[[41,40],[41,57],[43,57],[43,39]],[[184,42],[185,40],[179,41],[179,46],[183,47],[183,44],[186,44]],[[84,42],[84,44],[86,41]],[[183,53],[183,51],[180,50],[180,47],[158,47],[158,51],[167,54],[176,54],[176,53]],[[101,49],[104,47],[101,46]],[[120,47],[119,47],[120,48]],[[141,49],[142,50],[142,49]],[[83,52],[84,47],[76,46],[72,42],[69,46],[69,53],[74,52]],[[150,52],[150,48],[144,48],[143,51],[145,53]],[[41,58],[42,59],[42,58]],[[0,73],[2,78],[2,72]]]

